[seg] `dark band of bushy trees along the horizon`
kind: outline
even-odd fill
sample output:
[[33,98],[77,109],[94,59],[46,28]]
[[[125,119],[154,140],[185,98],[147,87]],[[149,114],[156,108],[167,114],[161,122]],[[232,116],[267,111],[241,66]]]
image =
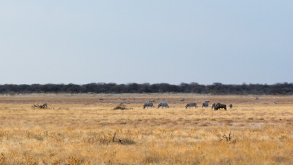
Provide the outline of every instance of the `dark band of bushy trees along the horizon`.
[[123,93],[191,93],[214,95],[292,95],[293,83],[277,83],[274,85],[261,85],[243,83],[242,85],[224,85],[213,83],[212,85],[200,85],[198,83],[180,83],[170,85],[168,83],[89,83],[76,84],[32,84],[32,85],[0,85],[0,94],[123,94]]

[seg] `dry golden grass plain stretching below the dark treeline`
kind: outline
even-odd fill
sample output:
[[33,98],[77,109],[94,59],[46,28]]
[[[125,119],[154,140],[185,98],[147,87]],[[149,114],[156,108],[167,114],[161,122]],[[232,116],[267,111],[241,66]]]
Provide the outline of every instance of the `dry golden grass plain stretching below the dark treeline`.
[[[143,109],[148,100],[169,109]],[[207,100],[233,109],[202,108]],[[128,109],[113,110],[120,102]],[[185,109],[191,102],[198,109]],[[0,96],[0,164],[293,164],[292,105],[293,96]]]

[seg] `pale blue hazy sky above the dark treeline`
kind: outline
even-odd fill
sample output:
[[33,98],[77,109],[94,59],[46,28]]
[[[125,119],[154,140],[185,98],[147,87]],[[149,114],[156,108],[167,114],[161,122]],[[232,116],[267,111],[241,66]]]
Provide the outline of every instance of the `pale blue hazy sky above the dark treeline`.
[[293,82],[293,1],[0,1],[0,84]]

